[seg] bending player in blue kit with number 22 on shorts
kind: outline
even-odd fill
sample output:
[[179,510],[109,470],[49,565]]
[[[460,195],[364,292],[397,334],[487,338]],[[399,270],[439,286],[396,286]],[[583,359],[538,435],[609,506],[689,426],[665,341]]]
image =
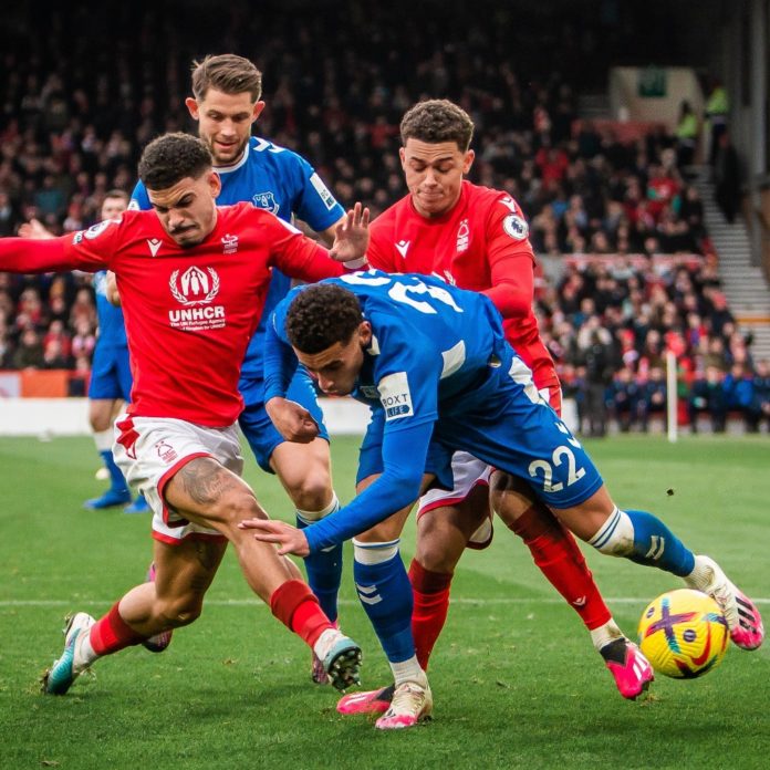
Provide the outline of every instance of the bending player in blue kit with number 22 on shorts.
[[[279,553],[304,556],[341,543],[410,506],[428,485],[450,485],[451,455],[466,450],[498,469],[496,507],[516,506],[506,479],[526,480],[601,553],[683,578],[719,603],[733,643],[743,649],[762,643],[757,607],[715,561],[694,554],[655,516],[614,503],[580,441],[506,341],[488,298],[436,278],[379,271],[300,287],[278,305],[268,332],[266,398],[279,426],[305,416],[285,399],[298,361],[323,392],[370,404],[357,474],[367,483],[347,506],[304,530],[281,521],[241,524],[279,543]],[[406,572],[395,558],[383,579],[360,582],[376,608],[370,618],[396,683],[377,727],[410,727],[430,715],[433,698],[410,648],[407,602],[398,601],[410,596]]]

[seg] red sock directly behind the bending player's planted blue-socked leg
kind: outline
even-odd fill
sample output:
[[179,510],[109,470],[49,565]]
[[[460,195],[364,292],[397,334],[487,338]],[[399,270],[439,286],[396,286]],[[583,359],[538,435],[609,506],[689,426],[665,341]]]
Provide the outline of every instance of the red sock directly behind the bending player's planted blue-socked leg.
[[412,635],[415,639],[417,660],[423,669],[428,667],[433,653],[449,612],[451,572],[430,572],[416,559],[409,565],[409,582],[414,596],[412,610]]

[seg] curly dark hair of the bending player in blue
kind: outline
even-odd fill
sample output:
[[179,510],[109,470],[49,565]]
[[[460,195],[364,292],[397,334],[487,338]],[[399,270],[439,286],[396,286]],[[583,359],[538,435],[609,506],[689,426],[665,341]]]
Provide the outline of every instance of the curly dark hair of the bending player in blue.
[[358,298],[336,283],[303,289],[289,305],[287,334],[298,351],[313,355],[347,344],[364,320]]

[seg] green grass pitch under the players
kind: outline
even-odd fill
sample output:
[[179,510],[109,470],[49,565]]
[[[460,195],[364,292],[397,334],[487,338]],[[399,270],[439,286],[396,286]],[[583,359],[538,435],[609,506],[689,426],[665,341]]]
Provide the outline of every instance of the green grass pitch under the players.
[[[659,514],[716,558],[770,618],[767,437],[624,436],[587,443],[621,506]],[[357,439],[334,441],[335,486],[351,496]],[[275,517],[290,504],[249,456],[247,479]],[[0,768],[725,768],[767,767],[770,643],[728,651],[703,679],[659,677],[624,701],[578,616],[512,534],[468,552],[430,666],[433,722],[381,733],[343,718],[310,683],[304,645],[249,593],[228,554],[202,617],[163,655],[100,660],[66,697],[38,676],[59,656],[62,618],[101,615],[142,580],[149,519],[89,512],[103,488],[89,438],[0,438]],[[410,559],[414,523],[403,541]],[[587,554],[629,635],[645,604],[679,581]],[[355,600],[351,553],[341,621],[364,648],[363,685],[387,666]]]

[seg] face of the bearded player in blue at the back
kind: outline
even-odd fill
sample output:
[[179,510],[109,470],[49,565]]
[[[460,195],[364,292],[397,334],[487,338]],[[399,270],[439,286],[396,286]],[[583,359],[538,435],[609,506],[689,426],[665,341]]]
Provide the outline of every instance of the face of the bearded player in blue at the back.
[[215,166],[230,166],[240,160],[251,136],[251,124],[264,108],[264,102],[252,102],[251,94],[226,94],[209,89],[201,100],[185,100],[192,118],[198,121],[198,135],[214,155]]

